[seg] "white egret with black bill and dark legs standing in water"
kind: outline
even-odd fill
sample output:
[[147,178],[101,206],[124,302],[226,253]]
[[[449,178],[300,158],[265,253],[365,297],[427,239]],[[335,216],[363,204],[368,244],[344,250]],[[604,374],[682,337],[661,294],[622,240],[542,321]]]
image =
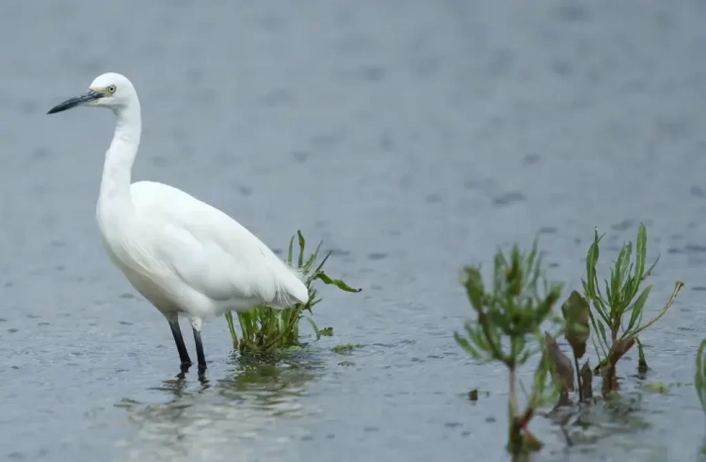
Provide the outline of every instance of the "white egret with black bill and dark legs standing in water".
[[78,106],[107,107],[117,118],[96,204],[98,229],[112,263],[167,318],[182,367],[192,363],[179,328],[180,313],[193,328],[203,371],[202,321],[259,304],[282,309],[309,301],[304,275],[237,221],[167,184],[131,182],[142,120],[128,78],[104,73],[88,92],[47,114]]

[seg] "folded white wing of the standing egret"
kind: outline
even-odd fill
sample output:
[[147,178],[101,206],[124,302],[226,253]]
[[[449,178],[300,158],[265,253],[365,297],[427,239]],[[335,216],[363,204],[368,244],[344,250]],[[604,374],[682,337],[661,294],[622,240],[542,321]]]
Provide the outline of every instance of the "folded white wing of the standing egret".
[[[308,300],[300,276],[225,213],[159,183],[141,186],[133,202],[160,229],[155,249],[184,283],[213,300],[256,297],[292,304]],[[155,186],[159,185],[159,186]]]

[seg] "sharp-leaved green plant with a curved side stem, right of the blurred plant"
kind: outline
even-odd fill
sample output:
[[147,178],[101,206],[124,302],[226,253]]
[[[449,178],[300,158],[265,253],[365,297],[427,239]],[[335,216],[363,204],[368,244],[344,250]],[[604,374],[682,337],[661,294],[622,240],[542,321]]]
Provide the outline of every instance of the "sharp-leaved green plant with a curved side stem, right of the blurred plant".
[[[638,334],[646,328],[652,326],[660,319],[674,303],[674,299],[681,290],[683,283],[677,281],[674,286],[669,301],[664,308],[654,316],[653,319],[645,323],[642,322],[642,315],[645,302],[650,295],[652,285],[648,285],[640,292],[642,281],[650,276],[652,269],[657,265],[659,257],[650,268],[645,268],[645,256],[647,254],[647,232],[645,225],[640,223],[638,228],[638,241],[635,247],[635,261],[630,260],[633,254],[633,243],[623,243],[618,252],[618,259],[611,267],[610,279],[604,280],[605,293],[601,292],[596,273],[596,264],[599,257],[599,242],[603,235],[599,237],[594,231],[594,239],[588,250],[586,258],[586,280],[582,280],[586,299],[590,302],[589,319],[591,321],[592,332],[597,334],[597,340],[593,340],[599,356],[599,365],[594,370],[595,374],[603,377],[604,394],[618,389],[616,379],[616,364],[633,345],[638,345],[640,362],[638,367],[647,369],[645,353],[642,350],[642,343]],[[639,293],[639,295],[638,295]]]

